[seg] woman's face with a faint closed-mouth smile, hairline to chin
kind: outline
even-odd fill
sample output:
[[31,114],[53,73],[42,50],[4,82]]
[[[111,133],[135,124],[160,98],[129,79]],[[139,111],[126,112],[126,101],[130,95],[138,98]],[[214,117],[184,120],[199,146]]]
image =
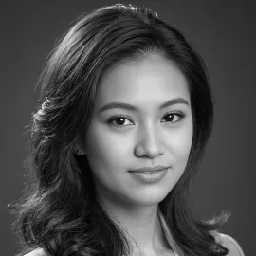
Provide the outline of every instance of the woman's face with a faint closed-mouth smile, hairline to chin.
[[[115,65],[99,85],[83,141],[98,200],[158,204],[183,174],[192,146],[188,82],[173,62],[152,55]],[[168,169],[131,172],[156,165]]]

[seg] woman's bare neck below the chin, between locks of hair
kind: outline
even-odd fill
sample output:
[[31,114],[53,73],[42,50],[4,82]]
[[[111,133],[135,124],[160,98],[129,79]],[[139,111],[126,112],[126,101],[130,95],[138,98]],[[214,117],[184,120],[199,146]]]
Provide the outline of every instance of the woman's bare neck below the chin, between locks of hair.
[[108,215],[118,221],[121,228],[134,239],[133,241],[131,238],[134,249],[136,249],[136,244],[139,250],[147,251],[169,247],[158,218],[158,205],[123,206],[108,201],[106,198],[103,198],[100,203]]

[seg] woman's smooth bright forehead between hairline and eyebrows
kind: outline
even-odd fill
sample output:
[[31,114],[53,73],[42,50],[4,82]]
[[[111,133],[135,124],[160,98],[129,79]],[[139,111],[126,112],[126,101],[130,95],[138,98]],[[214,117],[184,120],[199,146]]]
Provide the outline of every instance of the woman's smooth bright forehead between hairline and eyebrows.
[[95,106],[123,101],[144,106],[182,97],[190,101],[188,82],[176,64],[152,55],[115,64],[101,79]]

